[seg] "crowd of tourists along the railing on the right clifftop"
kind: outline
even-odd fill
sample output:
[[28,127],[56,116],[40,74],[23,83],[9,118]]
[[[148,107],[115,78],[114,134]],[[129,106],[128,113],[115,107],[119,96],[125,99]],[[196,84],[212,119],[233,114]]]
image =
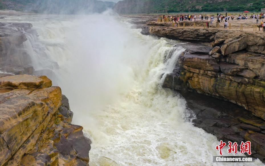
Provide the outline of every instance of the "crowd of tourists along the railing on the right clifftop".
[[[200,15],[176,15],[176,16],[160,16],[160,22],[162,21],[167,21],[167,22],[172,22],[172,23],[178,23],[180,21],[206,21],[206,28],[209,28],[209,24],[212,25],[213,21],[214,21],[214,15],[206,15],[206,14],[200,14]],[[228,25],[228,20],[234,20],[234,18],[236,18],[237,20],[244,20],[244,19],[248,19],[247,14],[239,14],[238,16],[235,16],[233,14],[231,15],[227,15],[227,13],[225,13],[225,15],[223,14],[219,14],[217,13],[217,17],[216,17],[216,22],[218,22],[219,24],[221,22],[224,22],[224,28],[227,28]],[[256,23],[258,24],[259,20],[264,19],[265,18],[265,14],[264,13],[260,13],[260,14],[252,14],[250,17],[250,19],[254,19],[256,20]],[[263,31],[265,32],[265,21],[261,21],[260,24],[258,25],[259,30],[261,27],[263,27]]]

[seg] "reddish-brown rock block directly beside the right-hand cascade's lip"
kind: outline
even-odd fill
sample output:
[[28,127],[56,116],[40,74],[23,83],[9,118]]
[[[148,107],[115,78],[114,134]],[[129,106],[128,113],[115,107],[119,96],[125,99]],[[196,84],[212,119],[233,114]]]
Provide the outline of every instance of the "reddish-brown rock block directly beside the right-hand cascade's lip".
[[187,65],[195,69],[220,71],[220,67],[215,58],[212,58],[209,55],[186,54],[182,56],[180,60],[183,65]]

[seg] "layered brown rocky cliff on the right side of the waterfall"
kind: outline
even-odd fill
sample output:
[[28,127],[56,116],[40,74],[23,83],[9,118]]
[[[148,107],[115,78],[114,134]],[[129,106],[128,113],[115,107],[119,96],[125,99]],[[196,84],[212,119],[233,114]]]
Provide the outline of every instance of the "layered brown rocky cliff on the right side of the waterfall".
[[194,125],[218,139],[250,140],[252,155],[265,162],[265,35],[176,28],[152,22],[147,23],[145,34],[146,30],[161,37],[189,40],[180,44],[186,52],[180,56],[174,73],[167,75],[163,87],[230,101],[248,110],[236,111],[231,107],[217,111],[206,105],[191,104],[197,107]]

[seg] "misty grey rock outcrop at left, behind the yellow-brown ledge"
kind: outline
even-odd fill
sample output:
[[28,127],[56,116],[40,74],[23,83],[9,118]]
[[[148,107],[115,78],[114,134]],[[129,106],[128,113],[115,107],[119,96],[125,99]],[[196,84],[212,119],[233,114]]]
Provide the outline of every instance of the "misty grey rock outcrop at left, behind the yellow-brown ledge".
[[30,23],[0,22],[0,70],[14,74],[32,74],[31,58],[23,43],[28,40],[23,33],[36,34]]

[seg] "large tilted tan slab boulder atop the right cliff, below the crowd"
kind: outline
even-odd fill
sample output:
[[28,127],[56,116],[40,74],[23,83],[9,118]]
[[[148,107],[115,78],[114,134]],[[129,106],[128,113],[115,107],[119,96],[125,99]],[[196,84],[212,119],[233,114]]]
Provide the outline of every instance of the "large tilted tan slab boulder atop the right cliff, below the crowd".
[[232,42],[224,44],[221,47],[222,55],[228,55],[233,52],[237,52],[247,48],[248,47],[247,41],[248,41],[248,36],[243,36],[237,40],[233,40]]

